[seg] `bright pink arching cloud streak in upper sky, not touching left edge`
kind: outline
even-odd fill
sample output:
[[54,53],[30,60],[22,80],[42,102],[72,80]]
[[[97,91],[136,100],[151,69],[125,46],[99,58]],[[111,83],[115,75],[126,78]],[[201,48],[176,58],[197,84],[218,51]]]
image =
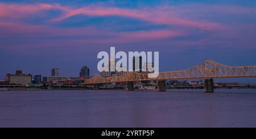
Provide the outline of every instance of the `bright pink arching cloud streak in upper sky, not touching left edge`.
[[171,14],[172,11],[163,11],[160,8],[156,9],[140,9],[140,10],[131,10],[131,9],[119,9],[116,7],[82,7],[80,9],[66,9],[65,14],[59,18],[53,19],[53,22],[60,21],[66,18],[69,18],[74,15],[90,15],[90,16],[126,16],[130,18],[136,18],[145,20],[154,24],[166,24],[166,25],[175,25],[175,26],[186,26],[186,27],[196,27],[204,30],[216,30],[222,28],[220,24],[213,22],[202,22],[189,20],[184,18],[179,18],[174,14]]

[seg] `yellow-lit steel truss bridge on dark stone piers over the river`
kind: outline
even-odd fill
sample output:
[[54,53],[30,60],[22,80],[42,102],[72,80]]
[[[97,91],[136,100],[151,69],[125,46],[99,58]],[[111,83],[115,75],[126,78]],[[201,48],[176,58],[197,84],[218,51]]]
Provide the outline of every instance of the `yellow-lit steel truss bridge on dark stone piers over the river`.
[[158,91],[166,91],[167,79],[205,79],[205,92],[213,92],[213,78],[242,78],[256,77],[256,66],[228,66],[212,60],[205,60],[199,65],[193,66],[186,70],[160,72],[158,77],[150,78],[151,74],[137,73],[135,71],[123,72],[117,77],[100,77],[93,75],[92,78],[86,79],[85,85],[93,85],[98,89],[102,83],[126,82],[126,90],[133,90],[133,83],[139,81],[158,81]]

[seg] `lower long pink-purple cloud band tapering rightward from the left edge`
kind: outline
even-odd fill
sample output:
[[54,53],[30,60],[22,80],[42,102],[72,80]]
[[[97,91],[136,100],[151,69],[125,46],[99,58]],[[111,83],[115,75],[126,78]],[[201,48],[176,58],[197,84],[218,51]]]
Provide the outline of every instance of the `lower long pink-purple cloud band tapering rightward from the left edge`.
[[[95,27],[60,28],[44,25],[28,25],[23,23],[0,22],[0,37],[15,38],[15,41],[1,47],[48,48],[48,47],[88,47],[88,45],[113,45],[127,43],[147,43],[149,41],[184,36],[188,32],[179,30],[154,30],[134,32],[108,32]],[[26,44],[26,45],[25,45]]]

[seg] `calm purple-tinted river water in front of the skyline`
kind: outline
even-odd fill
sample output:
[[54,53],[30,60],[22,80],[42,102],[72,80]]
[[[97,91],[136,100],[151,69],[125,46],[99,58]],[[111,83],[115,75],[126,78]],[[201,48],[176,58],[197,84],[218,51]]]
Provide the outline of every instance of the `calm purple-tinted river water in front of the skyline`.
[[256,90],[0,91],[0,127],[256,127]]

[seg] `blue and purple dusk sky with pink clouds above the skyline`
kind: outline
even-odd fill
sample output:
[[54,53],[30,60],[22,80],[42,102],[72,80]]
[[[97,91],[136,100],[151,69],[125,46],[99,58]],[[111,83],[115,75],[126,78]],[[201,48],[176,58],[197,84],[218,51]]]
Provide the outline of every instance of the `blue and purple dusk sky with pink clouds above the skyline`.
[[0,79],[55,67],[98,74],[97,53],[110,47],[158,51],[160,71],[256,65],[256,1],[0,1]]

